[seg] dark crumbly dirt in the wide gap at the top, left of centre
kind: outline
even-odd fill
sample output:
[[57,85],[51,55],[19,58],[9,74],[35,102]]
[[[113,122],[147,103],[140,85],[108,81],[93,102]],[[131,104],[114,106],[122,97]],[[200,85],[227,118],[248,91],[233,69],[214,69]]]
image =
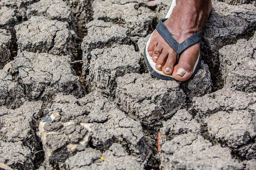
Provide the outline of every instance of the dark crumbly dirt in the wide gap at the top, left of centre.
[[74,16],[74,22],[76,33],[80,40],[86,35],[87,31],[85,25],[92,20],[92,7],[93,0],[64,0],[71,8],[72,15]]

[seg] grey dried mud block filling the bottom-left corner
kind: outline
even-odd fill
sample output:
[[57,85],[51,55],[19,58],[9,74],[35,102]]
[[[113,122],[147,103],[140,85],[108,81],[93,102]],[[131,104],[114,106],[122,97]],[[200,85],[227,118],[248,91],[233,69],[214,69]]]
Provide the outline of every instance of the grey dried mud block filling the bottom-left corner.
[[31,151],[22,142],[0,141],[0,162],[12,169],[34,169]]

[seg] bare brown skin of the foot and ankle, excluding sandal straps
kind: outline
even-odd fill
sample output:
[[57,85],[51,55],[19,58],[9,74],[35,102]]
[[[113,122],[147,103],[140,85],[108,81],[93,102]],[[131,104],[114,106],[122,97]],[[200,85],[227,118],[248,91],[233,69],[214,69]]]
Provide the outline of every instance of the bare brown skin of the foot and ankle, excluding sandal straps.
[[[174,0],[175,1],[175,0]],[[182,43],[203,29],[211,12],[211,0],[176,0],[176,6],[164,25],[173,38]],[[174,66],[177,53],[155,30],[148,45],[148,53],[156,63],[156,69],[172,75],[178,81],[186,81],[193,74],[193,67],[200,52],[200,42],[186,48]]]

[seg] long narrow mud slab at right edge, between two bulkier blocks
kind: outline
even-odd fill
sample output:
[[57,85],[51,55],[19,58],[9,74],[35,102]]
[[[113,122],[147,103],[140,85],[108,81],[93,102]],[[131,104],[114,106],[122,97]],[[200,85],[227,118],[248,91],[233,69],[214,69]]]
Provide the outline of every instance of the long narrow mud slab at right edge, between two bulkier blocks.
[[246,94],[241,91],[223,88],[214,93],[194,98],[193,108],[198,111],[202,119],[218,111],[248,110],[253,113],[254,108],[252,105],[256,103],[255,96],[256,93]]

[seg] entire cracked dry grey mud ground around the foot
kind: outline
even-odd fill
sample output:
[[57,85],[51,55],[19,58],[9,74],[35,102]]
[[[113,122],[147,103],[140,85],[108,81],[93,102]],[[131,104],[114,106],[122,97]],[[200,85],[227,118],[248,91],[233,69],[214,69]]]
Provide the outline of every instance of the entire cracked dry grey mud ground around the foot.
[[0,1],[0,163],[256,168],[255,1],[212,1],[187,82],[148,73],[144,47],[171,1],[146,3]]

